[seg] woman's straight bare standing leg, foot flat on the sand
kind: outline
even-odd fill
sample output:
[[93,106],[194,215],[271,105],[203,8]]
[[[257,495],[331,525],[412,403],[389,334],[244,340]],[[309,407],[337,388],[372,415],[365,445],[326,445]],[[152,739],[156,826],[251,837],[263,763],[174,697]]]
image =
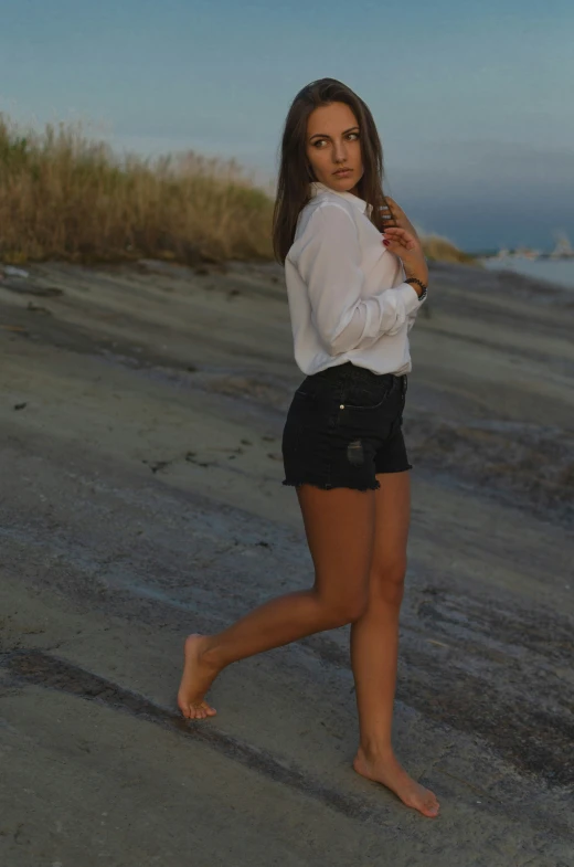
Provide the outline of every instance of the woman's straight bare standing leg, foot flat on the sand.
[[383,783],[426,816],[438,813],[433,792],[415,782],[396,760],[392,746],[393,704],[398,656],[398,613],[406,571],[411,519],[408,472],[378,476],[375,541],[369,605],[351,625],[351,660],[357,688],[360,746],[355,771]]

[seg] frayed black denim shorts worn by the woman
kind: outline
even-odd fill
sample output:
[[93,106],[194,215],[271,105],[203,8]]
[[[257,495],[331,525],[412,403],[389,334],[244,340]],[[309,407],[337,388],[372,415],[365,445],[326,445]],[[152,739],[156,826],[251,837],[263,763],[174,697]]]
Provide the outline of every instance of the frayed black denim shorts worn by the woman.
[[283,431],[283,485],[370,490],[378,473],[412,469],[403,437],[406,374],[348,361],[306,377]]

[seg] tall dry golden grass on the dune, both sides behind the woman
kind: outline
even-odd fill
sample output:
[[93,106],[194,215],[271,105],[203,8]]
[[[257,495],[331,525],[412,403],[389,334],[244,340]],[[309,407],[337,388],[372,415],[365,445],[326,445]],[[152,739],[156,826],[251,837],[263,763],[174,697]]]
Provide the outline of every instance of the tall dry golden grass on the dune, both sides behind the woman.
[[[81,125],[22,131],[0,114],[0,260],[272,258],[273,199],[235,160],[117,156]],[[465,261],[445,239],[429,258]]]

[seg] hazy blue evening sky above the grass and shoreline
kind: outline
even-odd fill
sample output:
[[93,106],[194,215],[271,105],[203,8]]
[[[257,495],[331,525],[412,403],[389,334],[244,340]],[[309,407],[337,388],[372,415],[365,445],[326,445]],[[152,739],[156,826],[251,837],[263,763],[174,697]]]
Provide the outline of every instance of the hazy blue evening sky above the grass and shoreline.
[[296,93],[369,105],[383,189],[469,251],[574,242],[572,0],[0,0],[0,112],[274,181]]

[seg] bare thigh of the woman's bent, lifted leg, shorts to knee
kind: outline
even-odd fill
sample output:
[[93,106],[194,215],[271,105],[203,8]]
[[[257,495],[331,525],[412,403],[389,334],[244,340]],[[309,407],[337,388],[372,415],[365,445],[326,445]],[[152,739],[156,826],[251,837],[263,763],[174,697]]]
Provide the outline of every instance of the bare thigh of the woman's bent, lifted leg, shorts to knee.
[[360,616],[369,600],[375,491],[301,485],[297,496],[317,592],[328,604]]

